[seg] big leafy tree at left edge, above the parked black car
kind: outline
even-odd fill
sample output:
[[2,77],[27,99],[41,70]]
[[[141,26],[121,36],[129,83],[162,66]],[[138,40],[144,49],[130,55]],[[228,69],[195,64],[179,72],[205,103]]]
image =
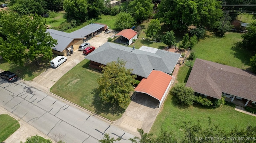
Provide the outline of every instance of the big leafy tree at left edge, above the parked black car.
[[0,12],[0,55],[8,62],[23,65],[27,59],[52,58],[52,46],[57,40],[46,32],[46,21],[37,14],[19,16]]

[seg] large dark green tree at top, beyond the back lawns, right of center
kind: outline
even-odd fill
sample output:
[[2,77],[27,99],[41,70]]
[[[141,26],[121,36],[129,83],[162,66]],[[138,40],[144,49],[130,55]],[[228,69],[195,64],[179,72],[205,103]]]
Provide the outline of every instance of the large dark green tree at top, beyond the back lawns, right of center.
[[158,9],[156,18],[181,31],[190,25],[213,28],[222,17],[218,0],[162,0]]

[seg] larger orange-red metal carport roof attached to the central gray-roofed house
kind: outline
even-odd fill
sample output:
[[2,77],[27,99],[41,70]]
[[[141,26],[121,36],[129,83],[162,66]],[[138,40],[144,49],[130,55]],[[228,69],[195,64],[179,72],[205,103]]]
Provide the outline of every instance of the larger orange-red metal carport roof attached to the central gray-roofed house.
[[162,71],[153,70],[148,78],[143,78],[135,88],[136,92],[146,93],[157,100],[161,101],[164,92],[168,88],[172,76]]

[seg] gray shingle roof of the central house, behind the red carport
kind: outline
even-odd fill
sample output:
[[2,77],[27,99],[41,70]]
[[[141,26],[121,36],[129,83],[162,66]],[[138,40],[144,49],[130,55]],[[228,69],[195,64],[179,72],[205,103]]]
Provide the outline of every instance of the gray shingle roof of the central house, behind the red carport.
[[147,78],[152,70],[171,74],[180,58],[180,54],[160,49],[156,53],[150,53],[106,42],[85,58],[103,65],[117,61],[120,58],[126,61],[127,69],[133,69],[133,74]]

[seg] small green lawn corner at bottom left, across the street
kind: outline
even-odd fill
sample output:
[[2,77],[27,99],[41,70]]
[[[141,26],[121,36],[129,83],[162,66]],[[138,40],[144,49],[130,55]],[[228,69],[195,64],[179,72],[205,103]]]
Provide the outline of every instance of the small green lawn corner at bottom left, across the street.
[[7,114],[0,115],[0,142],[6,140],[12,135],[18,128],[20,123]]

